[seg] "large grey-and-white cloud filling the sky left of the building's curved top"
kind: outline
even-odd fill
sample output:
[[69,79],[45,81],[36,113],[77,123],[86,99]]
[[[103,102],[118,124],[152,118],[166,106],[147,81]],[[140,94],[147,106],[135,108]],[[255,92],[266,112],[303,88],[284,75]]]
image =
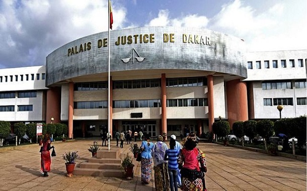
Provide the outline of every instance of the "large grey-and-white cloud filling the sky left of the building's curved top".
[[[112,4],[113,30],[126,10]],[[108,1],[0,1],[0,68],[44,65],[46,56],[72,40],[108,30]]]

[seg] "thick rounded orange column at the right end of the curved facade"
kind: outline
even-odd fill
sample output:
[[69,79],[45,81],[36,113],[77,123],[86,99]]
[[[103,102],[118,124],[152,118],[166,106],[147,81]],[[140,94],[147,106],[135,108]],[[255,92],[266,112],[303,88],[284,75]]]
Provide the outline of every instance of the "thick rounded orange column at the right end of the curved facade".
[[227,81],[226,90],[228,122],[232,129],[234,122],[248,120],[246,82],[240,79]]

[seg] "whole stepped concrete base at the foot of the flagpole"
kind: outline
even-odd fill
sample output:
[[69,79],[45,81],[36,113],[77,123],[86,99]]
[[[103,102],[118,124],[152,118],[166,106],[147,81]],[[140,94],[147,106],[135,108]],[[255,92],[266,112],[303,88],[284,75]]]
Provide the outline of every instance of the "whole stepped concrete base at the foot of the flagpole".
[[120,150],[99,150],[97,155],[89,158],[86,162],[81,162],[73,170],[74,175],[125,177],[124,170],[121,169]]

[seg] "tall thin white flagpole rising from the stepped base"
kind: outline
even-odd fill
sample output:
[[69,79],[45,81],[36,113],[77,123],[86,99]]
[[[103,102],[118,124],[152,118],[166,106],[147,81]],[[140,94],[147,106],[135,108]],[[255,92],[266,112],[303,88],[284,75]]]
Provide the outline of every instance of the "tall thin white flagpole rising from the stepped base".
[[108,0],[108,150],[110,150],[110,0]]

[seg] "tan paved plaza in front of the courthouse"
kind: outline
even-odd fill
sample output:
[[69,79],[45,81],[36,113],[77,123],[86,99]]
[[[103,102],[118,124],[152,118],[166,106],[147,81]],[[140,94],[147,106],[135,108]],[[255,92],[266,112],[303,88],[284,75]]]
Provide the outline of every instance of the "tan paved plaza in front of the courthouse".
[[[98,140],[101,144],[101,140]],[[67,177],[62,154],[78,151],[77,163],[91,157],[93,140],[71,140],[53,143],[57,156],[52,157],[51,172],[40,172],[38,144],[0,148],[0,190],[155,190],[155,183],[140,183],[140,162],[135,163],[132,180],[114,177],[74,175]],[[137,142],[140,144],[140,142]],[[111,141],[111,149],[116,142]],[[306,162],[271,156],[214,143],[199,143],[206,153],[206,187],[213,190],[306,190]],[[107,147],[100,147],[106,149]],[[124,145],[121,153],[132,153]],[[154,174],[152,171],[152,180]],[[179,189],[180,190],[180,189]]]

